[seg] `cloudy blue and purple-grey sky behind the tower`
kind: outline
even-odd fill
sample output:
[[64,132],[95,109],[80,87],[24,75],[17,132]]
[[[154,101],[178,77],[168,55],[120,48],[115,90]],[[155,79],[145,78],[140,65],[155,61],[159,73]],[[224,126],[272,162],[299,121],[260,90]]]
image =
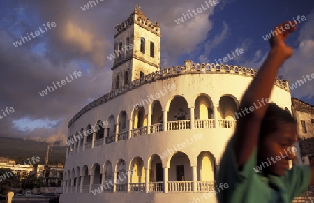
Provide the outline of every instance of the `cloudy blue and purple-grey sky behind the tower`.
[[[227,63],[258,69],[269,50],[263,36],[277,24],[304,15],[306,20],[298,22],[287,40],[294,56],[278,76],[291,84],[314,73],[313,0],[218,0],[213,6],[208,3],[209,8],[205,0],[98,0],[84,11],[85,4],[89,1],[0,1],[0,110],[14,108],[6,116],[0,111],[0,137],[63,142],[68,121],[110,91],[112,61],[107,55],[114,50],[114,28],[136,4],[150,20],[160,22],[162,68],[183,65],[186,59],[215,63],[242,48],[244,54]],[[197,8],[200,13],[177,24]],[[55,24],[49,28],[47,22]],[[21,37],[24,43],[18,45]],[[74,71],[82,76],[70,79]],[[65,77],[70,82],[40,96],[47,85]],[[313,87],[314,80],[309,81],[292,96],[314,105]]]

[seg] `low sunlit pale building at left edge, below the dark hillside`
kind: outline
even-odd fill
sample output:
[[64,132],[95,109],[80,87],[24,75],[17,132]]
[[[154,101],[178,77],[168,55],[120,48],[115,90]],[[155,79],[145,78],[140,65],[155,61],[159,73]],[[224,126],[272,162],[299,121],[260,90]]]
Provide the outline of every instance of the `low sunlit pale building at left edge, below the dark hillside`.
[[6,168],[12,170],[15,174],[31,174],[33,172],[33,165],[20,165],[16,164],[15,160],[8,158],[0,158],[0,168]]

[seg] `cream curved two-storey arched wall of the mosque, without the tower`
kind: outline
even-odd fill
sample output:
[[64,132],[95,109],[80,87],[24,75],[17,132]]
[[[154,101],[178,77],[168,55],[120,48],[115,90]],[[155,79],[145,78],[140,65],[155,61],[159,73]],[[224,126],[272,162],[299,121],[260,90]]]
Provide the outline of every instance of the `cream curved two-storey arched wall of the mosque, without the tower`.
[[[85,112],[70,123],[69,140],[84,130],[99,130],[68,146],[61,202],[192,202],[206,197],[205,202],[216,202],[214,176],[251,80],[250,74],[177,72]],[[290,110],[287,84],[275,85],[270,100]],[[106,125],[96,128],[99,121]]]

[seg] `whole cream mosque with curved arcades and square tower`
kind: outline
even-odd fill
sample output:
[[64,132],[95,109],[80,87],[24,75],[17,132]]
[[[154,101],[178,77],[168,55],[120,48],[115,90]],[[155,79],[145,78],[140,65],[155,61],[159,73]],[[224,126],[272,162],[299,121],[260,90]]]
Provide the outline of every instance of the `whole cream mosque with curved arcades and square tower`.
[[[217,202],[214,177],[257,71],[161,68],[160,24],[139,7],[117,24],[114,50],[112,91],[69,122],[61,202]],[[291,111],[287,81],[274,82],[270,100]]]

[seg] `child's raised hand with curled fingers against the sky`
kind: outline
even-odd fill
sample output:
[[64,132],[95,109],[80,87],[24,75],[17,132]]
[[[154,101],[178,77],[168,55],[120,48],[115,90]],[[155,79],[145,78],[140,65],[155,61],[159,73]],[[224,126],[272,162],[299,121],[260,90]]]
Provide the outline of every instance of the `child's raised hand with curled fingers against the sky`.
[[[285,27],[289,26],[289,29],[285,29]],[[288,47],[285,45],[285,39],[290,36],[290,33],[297,29],[296,24],[292,22],[284,22],[283,24],[279,24],[275,29],[276,35],[269,40],[271,50],[274,50],[276,54],[279,54],[283,59],[288,59],[293,54],[292,47]]]

